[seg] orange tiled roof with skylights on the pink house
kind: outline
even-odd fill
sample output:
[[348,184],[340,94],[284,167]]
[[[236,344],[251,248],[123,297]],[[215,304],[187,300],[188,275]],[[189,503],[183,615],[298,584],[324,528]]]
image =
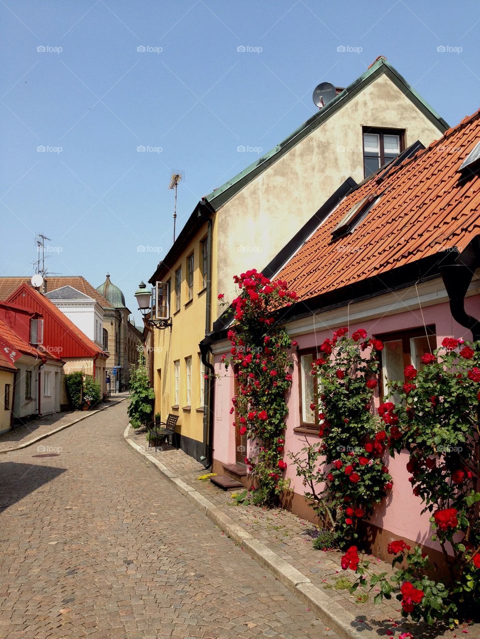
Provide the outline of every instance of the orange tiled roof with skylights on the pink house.
[[[300,300],[380,275],[457,247],[480,233],[480,178],[458,168],[480,141],[480,111],[445,131],[413,158],[372,176],[341,201],[277,277]],[[332,231],[362,198],[383,194],[352,233]]]

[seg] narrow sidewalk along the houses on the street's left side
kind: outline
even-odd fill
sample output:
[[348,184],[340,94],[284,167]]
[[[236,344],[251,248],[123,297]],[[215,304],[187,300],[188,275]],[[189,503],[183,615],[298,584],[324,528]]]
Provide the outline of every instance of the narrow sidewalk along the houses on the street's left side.
[[31,422],[24,424],[24,426],[16,426],[10,431],[0,435],[0,455],[39,442],[57,431],[63,430],[68,426],[73,426],[73,424],[77,424],[77,422],[81,422],[81,420],[95,415],[95,413],[98,413],[100,410],[105,410],[105,408],[109,408],[109,406],[118,404],[119,401],[123,401],[127,397],[128,392],[116,393],[110,397],[109,401],[100,402],[98,408],[95,408],[95,410],[62,411],[60,413],[54,413],[53,415],[47,415],[46,417],[33,419]]

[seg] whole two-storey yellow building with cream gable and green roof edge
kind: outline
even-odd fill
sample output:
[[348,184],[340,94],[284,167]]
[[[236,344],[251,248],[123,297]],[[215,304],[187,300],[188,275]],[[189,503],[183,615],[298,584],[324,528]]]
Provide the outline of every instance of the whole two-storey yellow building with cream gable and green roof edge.
[[149,280],[159,291],[151,319],[171,324],[153,328],[155,412],[162,420],[178,415],[183,450],[205,466],[212,461],[214,380],[204,383],[208,339],[203,358],[199,344],[221,315],[218,293],[231,300],[233,275],[249,268],[276,272],[290,258],[288,243],[321,203],[338,203],[352,184],[398,155],[409,157],[446,128],[380,57],[272,151],[197,204]]

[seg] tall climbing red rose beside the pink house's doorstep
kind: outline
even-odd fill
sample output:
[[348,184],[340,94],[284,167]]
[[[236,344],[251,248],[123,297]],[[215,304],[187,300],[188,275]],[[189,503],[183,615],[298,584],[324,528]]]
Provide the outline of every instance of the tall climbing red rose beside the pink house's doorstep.
[[272,282],[256,270],[233,280],[238,286],[231,302],[235,323],[228,332],[230,353],[222,358],[226,367],[233,367],[238,390],[230,413],[235,413],[233,427],[250,442],[245,463],[253,480],[251,500],[272,506],[289,484],[284,477],[284,429],[292,380],[288,349],[296,344],[277,326],[274,314],[297,295],[286,282]]

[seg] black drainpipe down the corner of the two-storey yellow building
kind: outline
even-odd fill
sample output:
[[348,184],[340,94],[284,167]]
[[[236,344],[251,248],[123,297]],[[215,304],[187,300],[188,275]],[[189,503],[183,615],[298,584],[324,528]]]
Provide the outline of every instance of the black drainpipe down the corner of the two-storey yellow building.
[[[208,203],[205,200],[201,201],[203,207],[199,210],[199,217],[202,217],[207,222],[207,235],[206,235],[206,309],[205,309],[205,335],[210,333],[210,323],[212,321],[212,217],[211,209],[208,210]],[[209,207],[210,208],[210,207]],[[201,360],[205,366],[205,371],[208,369],[210,375],[205,380],[204,397],[203,397],[203,455],[200,458],[201,463],[208,468],[212,465],[213,461],[213,393],[214,393],[214,381],[215,381],[215,369],[210,363],[210,343],[204,344],[203,341],[199,344]]]

